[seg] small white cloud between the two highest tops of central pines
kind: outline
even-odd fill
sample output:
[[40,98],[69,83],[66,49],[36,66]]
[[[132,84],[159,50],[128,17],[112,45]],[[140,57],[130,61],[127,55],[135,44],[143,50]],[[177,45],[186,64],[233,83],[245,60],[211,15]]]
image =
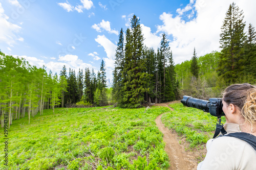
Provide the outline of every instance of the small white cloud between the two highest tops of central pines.
[[161,44],[161,37],[151,33],[150,27],[146,27],[143,24],[141,24],[140,26],[142,29],[143,37],[145,38],[144,44],[147,47],[153,47],[154,50],[157,51],[157,48],[160,47],[160,44]]

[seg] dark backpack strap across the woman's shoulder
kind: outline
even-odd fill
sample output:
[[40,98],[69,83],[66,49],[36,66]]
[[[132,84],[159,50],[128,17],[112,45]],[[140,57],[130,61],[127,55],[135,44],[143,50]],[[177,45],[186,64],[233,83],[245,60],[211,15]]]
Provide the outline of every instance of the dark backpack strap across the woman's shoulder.
[[241,140],[246,141],[248,144],[252,146],[252,148],[256,151],[256,136],[245,133],[245,132],[236,132],[236,133],[229,133],[225,136],[230,136],[230,137],[236,137]]

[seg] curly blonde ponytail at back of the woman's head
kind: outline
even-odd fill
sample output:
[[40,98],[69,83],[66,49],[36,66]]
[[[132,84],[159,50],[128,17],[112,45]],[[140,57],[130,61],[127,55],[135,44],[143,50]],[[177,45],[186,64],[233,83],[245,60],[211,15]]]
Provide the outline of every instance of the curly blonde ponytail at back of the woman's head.
[[251,125],[251,131],[256,125],[256,88],[250,88],[247,91],[246,101],[241,110],[244,118],[244,123]]

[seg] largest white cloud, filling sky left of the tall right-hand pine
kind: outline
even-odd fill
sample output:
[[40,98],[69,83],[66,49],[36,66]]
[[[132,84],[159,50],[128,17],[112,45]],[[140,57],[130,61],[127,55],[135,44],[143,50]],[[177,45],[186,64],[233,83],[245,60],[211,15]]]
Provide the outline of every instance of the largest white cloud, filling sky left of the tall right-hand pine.
[[[157,27],[157,33],[165,32],[174,38],[169,45],[173,51],[176,64],[190,60],[193,55],[194,47],[196,47],[198,56],[205,55],[212,51],[220,51],[219,39],[221,26],[226,11],[232,2],[231,0],[190,1],[190,4],[186,7],[177,10],[177,16],[165,12],[160,15],[159,18],[163,21],[163,25]],[[256,1],[237,0],[234,1],[234,3],[244,11],[244,20],[246,21],[247,27],[248,23],[252,23],[252,25],[255,26],[256,20],[253,18],[256,16],[256,11],[253,7],[256,6]],[[247,13],[245,13],[245,11]],[[188,21],[183,19],[184,17],[191,17],[194,12],[197,13],[195,18],[189,19]]]

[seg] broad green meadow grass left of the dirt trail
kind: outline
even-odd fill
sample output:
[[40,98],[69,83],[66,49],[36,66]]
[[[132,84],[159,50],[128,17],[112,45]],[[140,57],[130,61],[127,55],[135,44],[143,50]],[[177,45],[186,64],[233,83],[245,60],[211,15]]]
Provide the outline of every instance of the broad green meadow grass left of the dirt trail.
[[[14,120],[8,131],[8,168],[166,169],[158,115],[168,108],[56,108]],[[3,158],[4,132],[0,134]]]

